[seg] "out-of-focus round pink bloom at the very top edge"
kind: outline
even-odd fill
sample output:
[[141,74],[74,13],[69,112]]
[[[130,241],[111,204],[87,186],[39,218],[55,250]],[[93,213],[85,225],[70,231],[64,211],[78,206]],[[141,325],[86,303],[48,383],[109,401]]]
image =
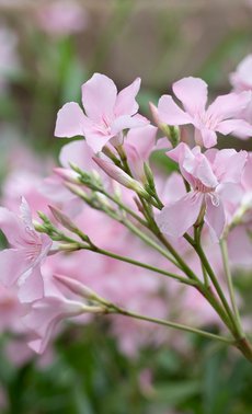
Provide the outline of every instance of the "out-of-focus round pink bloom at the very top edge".
[[51,1],[39,7],[36,13],[41,27],[50,35],[69,35],[87,28],[87,11],[75,0]]

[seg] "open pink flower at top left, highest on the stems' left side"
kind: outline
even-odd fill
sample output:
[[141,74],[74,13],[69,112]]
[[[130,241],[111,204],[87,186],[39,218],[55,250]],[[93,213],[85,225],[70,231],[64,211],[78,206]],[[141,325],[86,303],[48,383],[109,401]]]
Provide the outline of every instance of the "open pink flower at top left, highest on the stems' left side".
[[124,129],[147,124],[137,114],[135,100],[140,88],[140,78],[117,93],[112,79],[94,73],[82,85],[82,104],[85,114],[76,102],[69,102],[58,112],[56,137],[82,135],[94,152],[99,152],[110,139]]

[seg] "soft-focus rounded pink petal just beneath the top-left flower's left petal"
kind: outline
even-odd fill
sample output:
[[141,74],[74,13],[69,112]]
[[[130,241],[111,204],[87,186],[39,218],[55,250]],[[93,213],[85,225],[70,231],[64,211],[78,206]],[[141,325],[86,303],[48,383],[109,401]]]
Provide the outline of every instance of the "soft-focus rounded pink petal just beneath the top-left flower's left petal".
[[94,168],[92,157],[93,151],[82,139],[64,146],[59,153],[59,162],[66,169],[69,169],[69,163],[71,162],[77,164],[80,169],[90,171]]

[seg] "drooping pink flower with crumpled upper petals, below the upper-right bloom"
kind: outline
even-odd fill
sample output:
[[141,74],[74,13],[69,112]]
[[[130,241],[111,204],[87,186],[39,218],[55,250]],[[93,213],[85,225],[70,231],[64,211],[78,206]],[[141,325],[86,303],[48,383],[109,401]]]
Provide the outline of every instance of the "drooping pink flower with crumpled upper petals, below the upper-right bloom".
[[162,209],[157,217],[160,230],[182,237],[196,222],[202,207],[206,207],[205,222],[220,238],[226,223],[221,193],[229,185],[241,182],[247,152],[211,149],[203,154],[199,147],[191,150],[185,143],[180,143],[167,154],[179,162],[181,173],[192,189]]

